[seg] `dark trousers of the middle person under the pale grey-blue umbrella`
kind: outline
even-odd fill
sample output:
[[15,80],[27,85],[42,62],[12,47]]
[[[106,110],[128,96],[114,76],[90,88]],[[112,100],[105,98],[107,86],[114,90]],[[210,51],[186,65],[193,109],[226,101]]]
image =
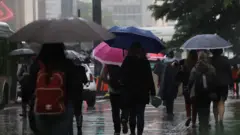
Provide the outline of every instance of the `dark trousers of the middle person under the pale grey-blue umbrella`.
[[200,129],[208,129],[209,126],[209,115],[210,115],[210,99],[196,99],[196,109],[199,119]]

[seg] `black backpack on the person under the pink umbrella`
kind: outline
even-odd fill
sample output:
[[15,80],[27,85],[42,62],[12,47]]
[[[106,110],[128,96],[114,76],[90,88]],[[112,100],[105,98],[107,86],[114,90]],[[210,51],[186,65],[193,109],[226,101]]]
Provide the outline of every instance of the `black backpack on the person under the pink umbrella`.
[[108,65],[108,77],[109,77],[109,85],[113,89],[121,88],[120,84],[120,76],[121,76],[121,67],[115,65]]

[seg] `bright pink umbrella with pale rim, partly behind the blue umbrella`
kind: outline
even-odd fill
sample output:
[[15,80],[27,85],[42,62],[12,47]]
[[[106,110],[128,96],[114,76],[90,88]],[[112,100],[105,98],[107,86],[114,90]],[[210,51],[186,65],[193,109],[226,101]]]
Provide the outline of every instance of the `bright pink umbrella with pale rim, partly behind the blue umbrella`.
[[93,50],[93,57],[103,64],[119,65],[121,66],[124,55],[126,56],[127,51],[118,48],[112,48],[105,42],[100,43]]

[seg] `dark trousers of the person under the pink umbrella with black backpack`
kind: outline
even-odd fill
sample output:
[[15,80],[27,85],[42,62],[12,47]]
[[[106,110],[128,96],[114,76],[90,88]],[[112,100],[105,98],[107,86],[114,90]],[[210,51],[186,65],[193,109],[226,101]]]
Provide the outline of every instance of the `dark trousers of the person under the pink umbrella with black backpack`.
[[[110,102],[112,106],[112,119],[115,133],[121,132],[121,123],[128,122],[128,109],[122,107],[122,99],[120,95],[110,94]],[[122,111],[122,112],[121,112]]]

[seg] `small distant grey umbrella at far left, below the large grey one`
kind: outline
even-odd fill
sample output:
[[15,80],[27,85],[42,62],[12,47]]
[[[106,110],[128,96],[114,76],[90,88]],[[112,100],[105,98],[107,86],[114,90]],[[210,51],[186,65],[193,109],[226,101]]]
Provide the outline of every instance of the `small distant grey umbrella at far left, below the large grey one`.
[[11,56],[33,56],[36,55],[36,53],[29,48],[20,48],[13,50],[12,52],[9,53]]

